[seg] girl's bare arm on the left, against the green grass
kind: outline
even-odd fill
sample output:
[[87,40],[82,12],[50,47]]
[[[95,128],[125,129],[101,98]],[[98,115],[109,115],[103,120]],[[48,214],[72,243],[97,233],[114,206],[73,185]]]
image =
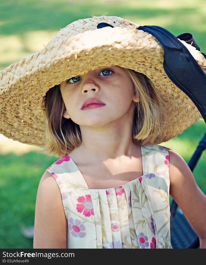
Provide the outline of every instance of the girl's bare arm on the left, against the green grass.
[[48,171],[42,176],[36,196],[33,248],[67,248],[67,220],[61,192]]

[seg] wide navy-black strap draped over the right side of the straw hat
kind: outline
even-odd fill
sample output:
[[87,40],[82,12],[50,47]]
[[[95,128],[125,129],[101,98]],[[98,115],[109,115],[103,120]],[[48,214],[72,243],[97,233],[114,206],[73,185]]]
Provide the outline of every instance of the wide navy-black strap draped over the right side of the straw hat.
[[151,33],[161,42],[164,49],[163,67],[167,76],[194,102],[206,123],[206,75],[193,56],[177,37],[162,27],[140,26],[138,30]]

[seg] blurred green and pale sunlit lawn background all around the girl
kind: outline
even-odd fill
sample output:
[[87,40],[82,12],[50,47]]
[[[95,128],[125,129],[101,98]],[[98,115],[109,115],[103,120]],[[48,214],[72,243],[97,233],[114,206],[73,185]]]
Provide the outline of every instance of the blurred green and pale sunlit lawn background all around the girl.
[[[193,34],[206,53],[206,1],[204,0],[0,0],[0,70],[44,48],[72,21],[91,17],[120,16],[139,25],[158,25],[175,36]],[[206,132],[203,119],[168,142],[188,163]],[[206,153],[193,174],[206,194]],[[57,158],[37,147],[20,144],[0,135],[0,248],[33,248],[33,239],[22,229],[34,225],[35,200],[40,178]]]

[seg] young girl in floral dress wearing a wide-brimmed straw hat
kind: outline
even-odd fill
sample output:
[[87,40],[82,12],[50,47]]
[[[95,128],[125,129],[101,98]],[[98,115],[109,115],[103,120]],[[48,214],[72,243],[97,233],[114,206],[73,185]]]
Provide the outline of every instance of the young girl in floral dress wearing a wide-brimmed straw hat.
[[183,158],[158,145],[201,115],[138,27],[75,21],[1,73],[2,132],[61,156],[39,183],[34,248],[171,248],[169,194],[206,248],[206,197]]

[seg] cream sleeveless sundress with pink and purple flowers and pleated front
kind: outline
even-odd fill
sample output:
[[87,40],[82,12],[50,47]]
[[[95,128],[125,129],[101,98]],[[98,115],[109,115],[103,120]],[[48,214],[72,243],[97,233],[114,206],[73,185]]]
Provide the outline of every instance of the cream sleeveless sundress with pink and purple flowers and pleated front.
[[89,189],[68,155],[47,169],[61,191],[67,248],[172,248],[168,149],[142,145],[141,154],[143,176],[108,189]]

